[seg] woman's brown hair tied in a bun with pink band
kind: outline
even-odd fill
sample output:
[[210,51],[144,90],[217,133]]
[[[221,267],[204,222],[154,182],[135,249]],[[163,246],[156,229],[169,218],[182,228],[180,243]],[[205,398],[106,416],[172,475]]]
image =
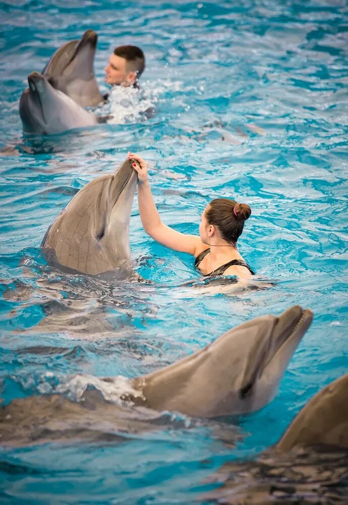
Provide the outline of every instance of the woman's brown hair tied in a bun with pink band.
[[242,235],[244,221],[250,215],[251,209],[248,204],[238,204],[237,201],[229,198],[211,200],[205,211],[208,224],[216,226],[221,238],[234,245]]

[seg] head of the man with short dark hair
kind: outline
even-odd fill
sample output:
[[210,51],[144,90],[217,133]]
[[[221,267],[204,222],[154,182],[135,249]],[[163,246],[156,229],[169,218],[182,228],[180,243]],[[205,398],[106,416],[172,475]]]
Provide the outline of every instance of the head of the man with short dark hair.
[[145,68],[145,56],[135,45],[116,47],[105,67],[105,82],[132,86],[139,79]]

